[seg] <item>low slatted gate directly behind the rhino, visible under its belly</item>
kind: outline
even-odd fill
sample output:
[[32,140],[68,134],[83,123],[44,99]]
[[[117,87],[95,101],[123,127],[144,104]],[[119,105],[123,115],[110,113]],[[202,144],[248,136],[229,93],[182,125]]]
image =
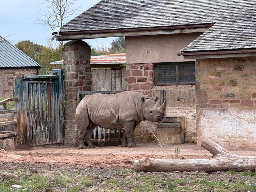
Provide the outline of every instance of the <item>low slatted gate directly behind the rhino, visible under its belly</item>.
[[[102,94],[116,94],[123,92],[124,90],[119,91],[81,91],[77,92],[77,104],[84,98],[86,95],[91,95],[94,93]],[[118,129],[105,129],[96,126],[93,130],[92,142],[121,142],[123,137],[124,128]]]

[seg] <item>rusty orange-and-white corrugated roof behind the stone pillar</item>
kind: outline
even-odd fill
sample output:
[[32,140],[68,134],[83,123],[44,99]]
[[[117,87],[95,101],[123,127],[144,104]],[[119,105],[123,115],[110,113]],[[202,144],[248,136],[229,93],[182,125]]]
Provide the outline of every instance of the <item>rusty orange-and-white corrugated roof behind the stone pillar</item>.
[[[125,53],[91,56],[91,64],[125,64]],[[63,64],[63,60],[50,64]]]

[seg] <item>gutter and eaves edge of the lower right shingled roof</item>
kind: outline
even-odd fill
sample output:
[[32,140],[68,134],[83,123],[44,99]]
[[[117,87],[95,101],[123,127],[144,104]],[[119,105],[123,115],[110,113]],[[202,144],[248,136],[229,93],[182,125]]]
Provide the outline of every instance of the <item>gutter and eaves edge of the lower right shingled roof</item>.
[[232,51],[212,51],[212,52],[182,52],[178,56],[184,59],[210,59],[210,58],[230,58],[230,57],[253,57],[256,56],[256,50],[232,50]]

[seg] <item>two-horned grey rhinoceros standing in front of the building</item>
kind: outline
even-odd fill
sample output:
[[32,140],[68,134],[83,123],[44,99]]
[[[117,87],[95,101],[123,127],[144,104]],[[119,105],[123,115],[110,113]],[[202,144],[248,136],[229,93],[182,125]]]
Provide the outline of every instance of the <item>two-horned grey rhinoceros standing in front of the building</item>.
[[136,147],[133,130],[142,121],[161,121],[164,118],[165,102],[156,103],[157,97],[149,99],[143,94],[125,91],[118,94],[86,95],[76,108],[79,148],[92,144],[92,133],[96,126],[107,129],[124,128],[122,147]]

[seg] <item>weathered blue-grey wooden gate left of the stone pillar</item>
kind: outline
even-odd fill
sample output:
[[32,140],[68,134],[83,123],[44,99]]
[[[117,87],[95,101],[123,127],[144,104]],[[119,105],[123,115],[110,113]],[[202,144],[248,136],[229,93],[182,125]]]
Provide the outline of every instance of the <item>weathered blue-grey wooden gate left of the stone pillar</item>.
[[64,143],[63,74],[25,76],[15,80],[16,107],[26,114],[29,146]]

